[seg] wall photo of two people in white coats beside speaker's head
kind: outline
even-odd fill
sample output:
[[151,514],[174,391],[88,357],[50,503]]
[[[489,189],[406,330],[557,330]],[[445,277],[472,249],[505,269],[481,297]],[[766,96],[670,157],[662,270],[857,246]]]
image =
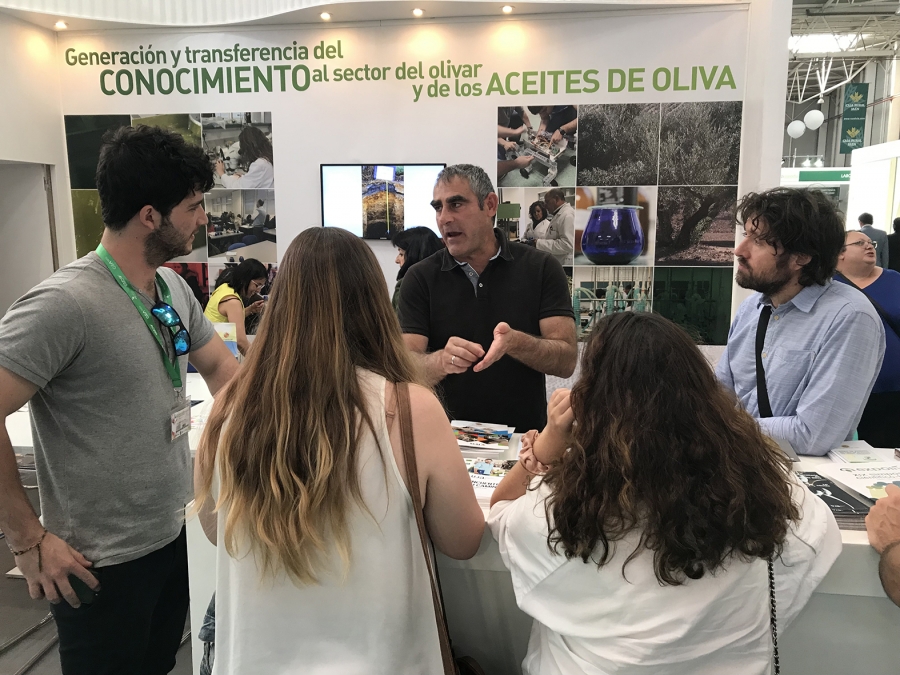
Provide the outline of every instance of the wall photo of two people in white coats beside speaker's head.
[[546,251],[563,267],[575,253],[575,188],[500,188],[497,227],[509,241]]

